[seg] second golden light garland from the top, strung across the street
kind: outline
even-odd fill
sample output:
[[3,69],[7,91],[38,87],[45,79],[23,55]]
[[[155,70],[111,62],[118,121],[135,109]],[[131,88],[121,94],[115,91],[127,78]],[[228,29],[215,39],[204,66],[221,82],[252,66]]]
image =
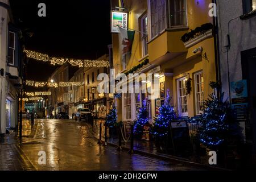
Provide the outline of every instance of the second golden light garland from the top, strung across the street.
[[26,80],[26,85],[27,86],[34,86],[36,88],[39,87],[44,87],[44,86],[48,86],[48,87],[54,87],[54,88],[58,88],[58,87],[68,87],[68,86],[81,86],[82,83],[81,82],[40,82],[40,81],[34,81],[34,80]]

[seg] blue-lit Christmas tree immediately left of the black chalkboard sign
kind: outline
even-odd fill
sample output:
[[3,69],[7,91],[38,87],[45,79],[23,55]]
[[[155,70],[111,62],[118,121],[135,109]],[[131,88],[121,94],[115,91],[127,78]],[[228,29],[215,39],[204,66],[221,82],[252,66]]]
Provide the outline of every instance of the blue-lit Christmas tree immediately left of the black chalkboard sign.
[[156,137],[164,137],[168,134],[169,123],[176,118],[174,106],[171,106],[171,97],[169,90],[167,91],[164,104],[159,108],[158,118],[155,118],[154,126],[151,128],[152,135]]

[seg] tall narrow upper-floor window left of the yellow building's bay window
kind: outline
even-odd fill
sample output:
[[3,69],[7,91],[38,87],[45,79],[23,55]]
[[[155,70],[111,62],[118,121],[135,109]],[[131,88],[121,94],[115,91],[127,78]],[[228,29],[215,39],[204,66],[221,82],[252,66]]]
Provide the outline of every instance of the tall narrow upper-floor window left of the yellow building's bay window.
[[[147,32],[144,32],[144,20],[147,18]],[[141,33],[141,42],[142,42],[142,57],[146,56],[148,54],[148,46],[145,47],[145,40],[146,40],[146,45],[148,42],[148,15],[147,13],[144,14],[141,18],[141,31],[143,33]]]

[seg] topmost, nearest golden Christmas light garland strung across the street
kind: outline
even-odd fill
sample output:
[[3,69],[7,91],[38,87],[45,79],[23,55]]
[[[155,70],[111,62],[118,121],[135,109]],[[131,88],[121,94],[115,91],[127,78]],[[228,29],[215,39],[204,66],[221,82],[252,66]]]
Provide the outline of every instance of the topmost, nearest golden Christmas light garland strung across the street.
[[109,61],[106,60],[80,60],[80,59],[69,59],[69,58],[59,58],[59,57],[49,57],[47,54],[43,54],[40,52],[24,50],[28,58],[35,59],[38,61],[51,62],[52,65],[63,65],[65,63],[69,63],[72,66],[81,67],[109,67]]

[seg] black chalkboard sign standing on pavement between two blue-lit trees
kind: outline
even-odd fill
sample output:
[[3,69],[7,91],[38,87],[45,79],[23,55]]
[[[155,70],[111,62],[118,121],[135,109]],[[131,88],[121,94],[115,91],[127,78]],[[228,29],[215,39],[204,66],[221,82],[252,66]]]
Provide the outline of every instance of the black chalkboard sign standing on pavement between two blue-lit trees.
[[173,121],[170,123],[172,145],[174,153],[185,154],[191,151],[191,140],[187,121]]

